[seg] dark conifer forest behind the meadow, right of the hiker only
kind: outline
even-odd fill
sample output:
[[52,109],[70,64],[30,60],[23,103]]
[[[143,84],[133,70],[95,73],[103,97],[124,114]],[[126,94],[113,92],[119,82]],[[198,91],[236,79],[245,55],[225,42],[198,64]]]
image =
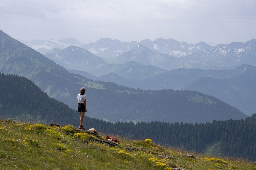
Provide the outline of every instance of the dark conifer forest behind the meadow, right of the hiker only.
[[87,126],[104,133],[135,139],[150,138],[162,145],[213,155],[244,157],[252,161],[256,159],[256,114],[245,120],[230,119],[199,124],[158,121],[94,124],[92,120],[86,120]]

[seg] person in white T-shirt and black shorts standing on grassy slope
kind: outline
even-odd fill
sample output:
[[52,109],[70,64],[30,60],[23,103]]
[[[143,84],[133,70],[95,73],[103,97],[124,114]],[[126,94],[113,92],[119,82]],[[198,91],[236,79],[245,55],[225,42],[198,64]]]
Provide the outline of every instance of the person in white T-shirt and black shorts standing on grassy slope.
[[80,126],[79,126],[79,129],[85,130],[84,125],[83,125],[83,119],[84,119],[84,116],[85,116],[85,112],[87,112],[85,87],[82,87],[80,89],[80,93],[77,95],[77,103],[78,103],[78,112],[80,112]]

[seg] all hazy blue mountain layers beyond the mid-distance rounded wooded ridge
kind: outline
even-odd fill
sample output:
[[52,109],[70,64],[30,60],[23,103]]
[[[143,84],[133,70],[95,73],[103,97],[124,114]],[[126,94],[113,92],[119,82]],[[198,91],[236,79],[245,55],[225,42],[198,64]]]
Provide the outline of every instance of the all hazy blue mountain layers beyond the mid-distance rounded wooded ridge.
[[89,44],[81,44],[74,38],[22,42],[71,72],[92,80],[146,90],[196,90],[219,98],[247,115],[256,111],[255,39],[215,46],[170,38],[131,43],[110,38]]

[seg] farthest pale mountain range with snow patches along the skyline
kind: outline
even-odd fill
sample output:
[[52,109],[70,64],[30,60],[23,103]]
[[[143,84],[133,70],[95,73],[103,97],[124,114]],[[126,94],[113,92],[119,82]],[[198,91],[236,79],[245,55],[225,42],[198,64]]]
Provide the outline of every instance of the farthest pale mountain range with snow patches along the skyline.
[[40,52],[41,54],[46,54],[47,52],[59,48],[64,49],[71,45],[84,48],[91,53],[103,57],[112,58],[116,57],[123,52],[130,51],[138,45],[144,45],[152,51],[168,54],[176,57],[192,54],[195,52],[200,52],[204,50],[213,50],[215,46],[208,45],[204,42],[191,43],[188,44],[184,41],[179,42],[175,39],[163,39],[157,38],[153,41],[150,39],[141,40],[140,42],[131,41],[121,42],[117,39],[101,38],[94,43],[81,44],[78,40],[74,38],[62,39],[62,40],[32,40],[23,41],[21,43],[33,48],[34,50]]

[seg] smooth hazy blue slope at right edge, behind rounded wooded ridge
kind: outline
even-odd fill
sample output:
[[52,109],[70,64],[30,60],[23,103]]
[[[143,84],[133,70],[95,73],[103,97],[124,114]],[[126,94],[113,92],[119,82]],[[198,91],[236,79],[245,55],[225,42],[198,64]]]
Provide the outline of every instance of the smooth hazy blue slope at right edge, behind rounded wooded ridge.
[[225,79],[200,78],[185,87],[214,96],[247,115],[256,113],[256,67],[242,65],[226,75]]

